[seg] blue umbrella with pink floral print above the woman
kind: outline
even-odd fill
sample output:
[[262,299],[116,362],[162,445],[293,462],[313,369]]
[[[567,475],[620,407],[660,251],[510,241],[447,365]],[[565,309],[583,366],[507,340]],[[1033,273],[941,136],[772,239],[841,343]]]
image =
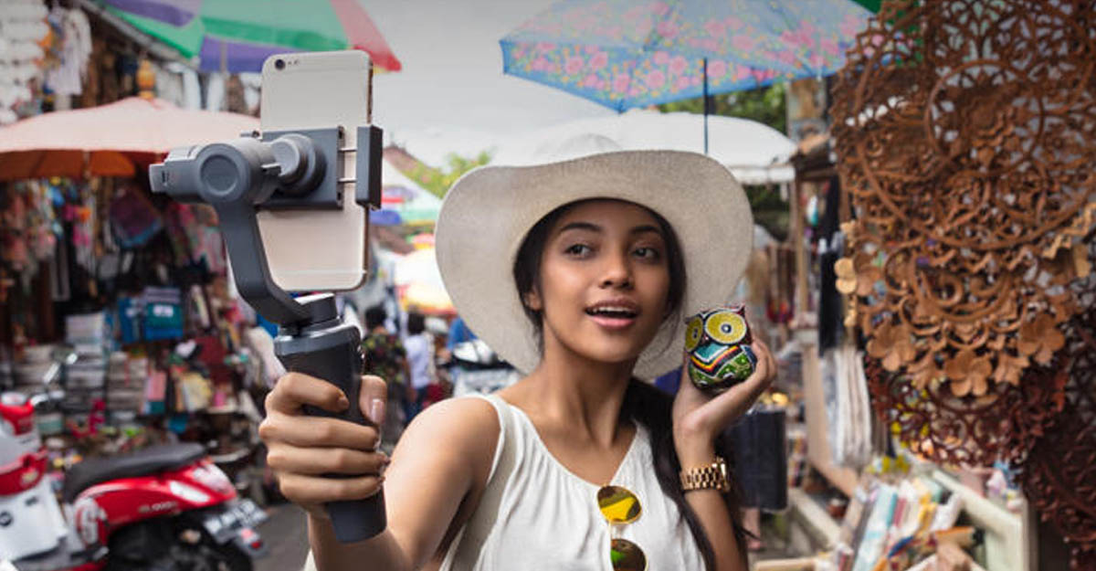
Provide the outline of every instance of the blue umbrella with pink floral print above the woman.
[[505,73],[625,111],[834,73],[870,15],[852,0],[563,0],[500,44]]

